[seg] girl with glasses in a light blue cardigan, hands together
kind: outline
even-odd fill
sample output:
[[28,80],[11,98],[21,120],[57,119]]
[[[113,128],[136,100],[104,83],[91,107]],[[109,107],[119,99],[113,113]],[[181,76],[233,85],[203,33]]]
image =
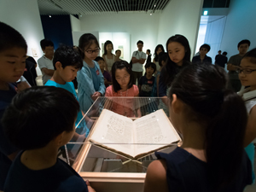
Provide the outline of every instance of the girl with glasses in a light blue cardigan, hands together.
[[94,61],[100,52],[100,47],[93,34],[85,33],[79,38],[79,52],[84,60],[83,67],[77,74],[79,104],[86,113],[97,97],[103,96],[106,90],[102,71]]

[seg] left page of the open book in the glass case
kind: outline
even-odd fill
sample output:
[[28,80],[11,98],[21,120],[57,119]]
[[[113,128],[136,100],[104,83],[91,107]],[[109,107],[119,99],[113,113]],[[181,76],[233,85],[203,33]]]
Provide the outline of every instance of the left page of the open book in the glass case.
[[133,143],[133,129],[131,119],[103,109],[90,141],[134,156],[134,148],[131,144]]

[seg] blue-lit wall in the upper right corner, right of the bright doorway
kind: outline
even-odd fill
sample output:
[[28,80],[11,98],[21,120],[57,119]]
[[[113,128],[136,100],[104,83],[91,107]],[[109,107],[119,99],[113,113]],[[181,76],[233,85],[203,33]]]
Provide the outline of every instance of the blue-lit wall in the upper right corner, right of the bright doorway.
[[251,41],[250,49],[256,47],[256,1],[232,0],[230,12],[224,27],[224,35],[220,44],[221,50],[228,52],[228,57],[238,54],[237,44],[242,39]]

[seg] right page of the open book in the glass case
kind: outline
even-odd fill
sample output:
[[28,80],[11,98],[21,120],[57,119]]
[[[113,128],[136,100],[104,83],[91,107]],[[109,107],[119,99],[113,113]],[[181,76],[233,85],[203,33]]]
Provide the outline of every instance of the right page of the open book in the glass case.
[[154,151],[181,140],[162,109],[136,119],[134,124],[135,143],[145,143],[135,146],[136,155]]

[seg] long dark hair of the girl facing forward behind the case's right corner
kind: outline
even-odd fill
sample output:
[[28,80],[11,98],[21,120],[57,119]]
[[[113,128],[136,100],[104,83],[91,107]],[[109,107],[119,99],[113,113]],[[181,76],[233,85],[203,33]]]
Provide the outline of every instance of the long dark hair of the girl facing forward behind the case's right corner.
[[161,70],[161,77],[163,77],[164,84],[166,84],[167,86],[170,86],[172,84],[172,80],[175,78],[177,73],[179,73],[181,68],[186,67],[190,64],[191,50],[189,47],[188,39],[185,38],[183,35],[172,36],[166,42],[167,53],[168,53],[168,44],[172,42],[177,42],[179,44],[182,44],[185,49],[185,55],[183,58],[182,67],[178,67],[177,64],[171,60],[170,56],[168,56],[166,66],[163,67],[163,69]]

